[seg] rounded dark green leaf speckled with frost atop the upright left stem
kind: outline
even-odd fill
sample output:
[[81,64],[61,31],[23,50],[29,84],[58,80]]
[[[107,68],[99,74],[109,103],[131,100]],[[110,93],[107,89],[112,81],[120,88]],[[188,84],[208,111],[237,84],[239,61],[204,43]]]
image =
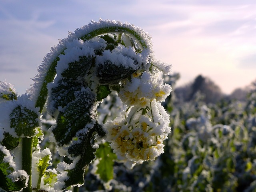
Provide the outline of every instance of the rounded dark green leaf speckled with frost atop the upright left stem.
[[32,137],[35,128],[39,127],[38,115],[26,107],[18,106],[10,114],[10,126],[15,129],[16,134],[24,137]]

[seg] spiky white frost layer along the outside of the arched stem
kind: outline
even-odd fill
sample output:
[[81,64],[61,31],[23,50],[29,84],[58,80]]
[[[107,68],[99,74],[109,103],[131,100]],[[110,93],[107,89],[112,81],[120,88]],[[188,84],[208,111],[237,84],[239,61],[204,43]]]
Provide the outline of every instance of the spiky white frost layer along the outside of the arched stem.
[[[95,30],[98,30],[100,28],[111,28],[111,27],[119,27],[119,28],[127,28],[128,30],[135,31],[136,34],[130,34],[130,32],[126,29],[122,29],[124,32],[128,32],[128,36],[131,38],[136,39],[136,36],[140,36],[140,43],[138,43],[138,46],[141,47],[142,49],[142,58],[144,60],[148,61],[150,63],[151,61],[149,60],[149,55],[152,55],[152,43],[151,43],[151,36],[146,33],[144,30],[135,27],[133,24],[128,24],[128,23],[121,23],[120,21],[115,21],[115,20],[102,20],[100,19],[99,22],[94,22],[92,21],[86,26],[83,26],[81,28],[76,29],[74,33],[70,32],[69,36],[65,39],[60,40],[59,44],[55,47],[52,47],[52,50],[50,53],[48,53],[44,61],[40,66],[38,66],[38,75],[34,77],[34,84],[31,85],[31,88],[27,90],[29,94],[32,95],[33,100],[37,100],[39,96],[39,92],[42,88],[42,84],[44,83],[44,78],[52,64],[52,62],[61,54],[62,51],[66,49],[66,46],[68,43],[73,42],[74,39],[79,39],[86,34],[89,34],[90,32],[93,32]],[[134,36],[135,35],[135,36]],[[93,37],[92,37],[93,38]],[[95,46],[94,44],[93,46]],[[93,47],[92,46],[92,47]],[[143,66],[144,69],[148,69],[149,65],[146,65],[147,62],[144,62],[145,65]]]

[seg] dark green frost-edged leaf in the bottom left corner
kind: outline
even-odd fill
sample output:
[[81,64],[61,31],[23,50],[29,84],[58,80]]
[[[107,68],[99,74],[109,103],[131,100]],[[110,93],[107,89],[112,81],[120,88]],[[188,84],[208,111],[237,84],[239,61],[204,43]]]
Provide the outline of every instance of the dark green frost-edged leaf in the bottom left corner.
[[20,175],[18,180],[12,181],[8,176],[14,172],[9,162],[4,161],[4,157],[7,156],[0,150],[0,188],[6,191],[20,191],[26,187],[27,178],[24,175]]

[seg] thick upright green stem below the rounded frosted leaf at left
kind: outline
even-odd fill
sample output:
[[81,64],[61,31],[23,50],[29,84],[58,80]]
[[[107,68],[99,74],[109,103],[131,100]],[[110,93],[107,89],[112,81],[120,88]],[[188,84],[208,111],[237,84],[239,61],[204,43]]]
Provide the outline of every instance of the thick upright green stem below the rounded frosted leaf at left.
[[22,169],[24,169],[29,178],[28,178],[28,186],[23,189],[23,192],[32,192],[32,147],[33,147],[34,137],[22,138]]

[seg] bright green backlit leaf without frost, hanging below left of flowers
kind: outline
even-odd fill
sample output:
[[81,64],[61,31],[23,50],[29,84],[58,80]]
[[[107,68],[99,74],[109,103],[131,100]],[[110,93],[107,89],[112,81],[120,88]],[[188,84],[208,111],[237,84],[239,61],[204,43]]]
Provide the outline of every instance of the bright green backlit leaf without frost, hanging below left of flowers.
[[100,147],[95,153],[96,157],[99,158],[100,162],[97,164],[96,174],[99,174],[100,178],[104,182],[108,182],[113,179],[113,165],[114,160],[116,160],[116,154],[113,153],[113,150],[110,148],[109,144],[105,142],[100,144]]

